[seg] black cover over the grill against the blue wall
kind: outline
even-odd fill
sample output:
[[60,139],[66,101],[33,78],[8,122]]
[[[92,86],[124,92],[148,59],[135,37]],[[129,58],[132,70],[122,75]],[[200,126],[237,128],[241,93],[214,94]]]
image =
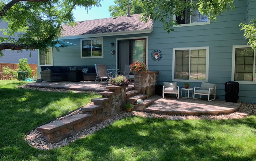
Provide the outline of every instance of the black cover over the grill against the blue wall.
[[239,99],[239,83],[238,82],[226,82],[225,83],[225,100],[226,102],[237,103]]

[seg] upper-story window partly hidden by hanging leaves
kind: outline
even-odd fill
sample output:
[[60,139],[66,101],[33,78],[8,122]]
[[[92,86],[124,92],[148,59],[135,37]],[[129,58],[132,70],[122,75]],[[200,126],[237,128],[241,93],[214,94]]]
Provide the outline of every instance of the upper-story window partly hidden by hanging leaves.
[[[190,1],[192,3],[193,0]],[[210,19],[207,18],[206,15],[202,15],[197,9],[193,10],[192,8],[188,9],[187,11],[183,11],[183,19],[182,16],[174,15],[174,20],[177,20],[177,23],[180,24],[180,26],[210,24]]]

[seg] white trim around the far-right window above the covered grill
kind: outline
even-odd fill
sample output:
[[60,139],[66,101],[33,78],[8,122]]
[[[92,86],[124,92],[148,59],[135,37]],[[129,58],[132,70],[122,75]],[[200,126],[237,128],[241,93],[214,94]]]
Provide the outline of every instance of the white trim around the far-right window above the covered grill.
[[[232,49],[232,74],[231,74],[231,81],[235,81],[235,66],[236,66],[236,48],[248,48],[251,47],[251,45],[233,45]],[[240,84],[256,84],[256,81],[254,81],[255,76],[255,55],[256,50],[254,50],[254,57],[253,57],[253,81],[236,81]]]

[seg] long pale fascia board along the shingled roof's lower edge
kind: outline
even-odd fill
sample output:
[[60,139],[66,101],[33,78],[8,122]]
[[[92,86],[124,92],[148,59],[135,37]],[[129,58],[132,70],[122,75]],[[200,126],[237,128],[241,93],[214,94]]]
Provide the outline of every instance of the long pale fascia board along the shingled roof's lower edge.
[[144,29],[144,30],[118,31],[118,32],[106,32],[106,33],[99,33],[99,34],[86,34],[86,35],[59,37],[59,40],[107,37],[107,36],[116,36],[116,35],[144,34],[144,33],[151,33],[152,31],[153,31],[153,26],[152,28]]

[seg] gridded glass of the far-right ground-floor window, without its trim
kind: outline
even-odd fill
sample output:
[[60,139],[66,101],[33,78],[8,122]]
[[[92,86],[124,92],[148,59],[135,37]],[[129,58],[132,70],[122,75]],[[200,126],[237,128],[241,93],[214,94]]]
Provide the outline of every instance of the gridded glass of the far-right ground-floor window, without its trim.
[[236,49],[235,81],[253,81],[253,59],[251,48]]

